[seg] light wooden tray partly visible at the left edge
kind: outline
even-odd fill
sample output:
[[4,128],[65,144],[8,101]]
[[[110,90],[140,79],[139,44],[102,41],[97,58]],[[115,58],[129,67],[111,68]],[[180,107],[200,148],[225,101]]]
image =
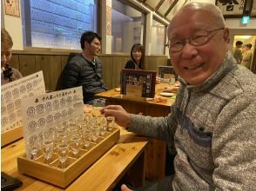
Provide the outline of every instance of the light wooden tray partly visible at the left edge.
[[14,142],[23,136],[23,126],[11,128],[10,130],[7,130],[1,134],[1,147],[9,144],[10,142]]

